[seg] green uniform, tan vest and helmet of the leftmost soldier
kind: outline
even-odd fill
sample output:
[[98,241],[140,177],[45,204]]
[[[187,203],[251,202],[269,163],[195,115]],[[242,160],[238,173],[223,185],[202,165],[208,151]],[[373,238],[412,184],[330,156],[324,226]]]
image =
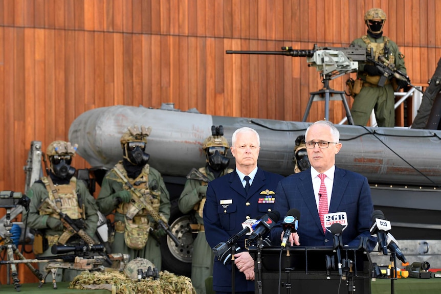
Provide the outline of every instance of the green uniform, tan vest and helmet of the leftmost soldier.
[[[54,144],[65,144],[64,141],[55,141],[51,143],[48,147],[47,156],[50,157],[53,155],[53,152],[50,150],[51,146]],[[67,153],[61,153],[61,155]],[[74,154],[71,154],[72,156]],[[61,211],[67,215],[69,215],[73,220],[82,218],[81,214],[85,216],[84,223],[85,227],[83,228],[87,235],[94,238],[95,232],[97,229],[98,222],[98,207],[95,202],[95,198],[89,193],[86,185],[82,180],[77,180],[75,177],[71,177],[69,180],[60,180],[56,176],[53,175],[53,170],[51,168],[50,177],[55,185],[55,188],[58,190],[58,196],[60,198],[61,203]],[[53,256],[51,253],[51,247],[53,244],[57,244],[58,238],[63,234],[64,228],[62,224],[57,227],[50,227],[51,223],[54,223],[56,219],[59,219],[59,216],[56,214],[45,214],[38,210],[40,204],[45,200],[45,198],[53,199],[53,193],[49,193],[49,186],[45,186],[48,183],[48,177],[42,177],[40,180],[37,180],[31,188],[27,192],[27,196],[31,199],[29,204],[29,212],[23,213],[23,221],[26,222],[31,229],[39,230],[43,233],[45,238],[45,243],[47,244],[43,247],[44,252],[42,254],[36,254],[38,257],[44,256]],[[72,192],[71,192],[72,191]],[[75,191],[75,192],[74,192]],[[78,199],[76,201],[72,201]],[[68,205],[69,204],[69,205]],[[77,209],[83,211],[78,214]],[[69,239],[69,243],[78,242],[80,237],[78,235],[74,235]],[[44,267],[46,263],[39,263],[40,272],[44,272]],[[72,279],[80,273],[78,270],[71,269],[58,269],[56,281],[72,281]],[[47,282],[52,281],[52,276],[48,275]]]

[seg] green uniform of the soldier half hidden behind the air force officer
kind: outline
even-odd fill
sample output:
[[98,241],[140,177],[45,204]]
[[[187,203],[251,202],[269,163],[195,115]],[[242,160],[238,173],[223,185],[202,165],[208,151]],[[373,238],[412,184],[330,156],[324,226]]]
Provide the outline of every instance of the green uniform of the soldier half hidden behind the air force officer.
[[[199,169],[210,181],[215,178],[208,167]],[[220,176],[232,172],[233,169],[225,169]],[[189,178],[185,182],[184,190],[179,197],[178,206],[182,213],[194,212],[197,221],[196,239],[193,242],[193,255],[191,260],[191,282],[197,294],[205,294],[205,280],[213,274],[214,254],[205,239],[204,220],[202,212],[205,203],[208,183],[200,179]]]

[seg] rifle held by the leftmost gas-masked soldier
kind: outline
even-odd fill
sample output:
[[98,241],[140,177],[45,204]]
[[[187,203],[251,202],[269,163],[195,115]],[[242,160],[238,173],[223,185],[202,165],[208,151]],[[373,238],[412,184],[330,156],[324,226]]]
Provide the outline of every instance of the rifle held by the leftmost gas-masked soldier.
[[51,201],[51,199],[45,198],[45,200],[41,202],[38,210],[48,213],[57,213],[59,215],[60,220],[66,230],[64,230],[63,234],[61,234],[60,238],[58,239],[58,243],[65,244],[70,237],[78,234],[87,244],[97,244],[97,242],[91,236],[87,235],[83,229],[78,227],[76,222],[83,221],[82,219],[74,221],[69,215],[61,212],[61,210],[54,202]]

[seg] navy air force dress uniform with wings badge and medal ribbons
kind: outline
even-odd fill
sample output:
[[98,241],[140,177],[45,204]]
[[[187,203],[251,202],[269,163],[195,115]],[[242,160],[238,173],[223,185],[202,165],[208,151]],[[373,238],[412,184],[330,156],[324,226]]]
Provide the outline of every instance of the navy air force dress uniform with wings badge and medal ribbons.
[[[208,183],[203,217],[205,237],[210,247],[213,248],[220,242],[226,242],[240,232],[241,223],[247,219],[247,216],[251,219],[260,219],[270,212],[273,209],[274,200],[263,199],[277,197],[274,193],[282,178],[283,176],[279,174],[258,168],[248,196],[235,171]],[[249,236],[242,236],[237,241],[237,247],[241,248],[240,252],[246,250],[244,245],[247,237]],[[214,257],[213,289],[215,291],[231,292],[231,268],[231,262],[224,265],[217,256]],[[254,281],[247,281],[244,273],[240,273],[236,266],[233,268],[235,291],[254,291]]]

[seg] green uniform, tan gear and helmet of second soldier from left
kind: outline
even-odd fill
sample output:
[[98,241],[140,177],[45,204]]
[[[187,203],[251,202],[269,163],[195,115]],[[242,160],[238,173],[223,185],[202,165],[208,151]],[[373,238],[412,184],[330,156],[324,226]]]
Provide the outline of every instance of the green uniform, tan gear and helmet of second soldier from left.
[[[135,131],[135,133],[137,133],[137,131]],[[142,138],[128,138],[126,141],[123,141],[122,139],[121,145],[124,149],[127,148],[126,145],[128,142],[135,142],[138,140],[139,142],[146,143],[147,135],[148,134],[143,133],[141,136]],[[112,253],[129,254],[129,260],[133,260],[137,257],[148,259],[155,264],[158,270],[161,270],[160,244],[151,236],[152,234],[150,228],[151,230],[155,231],[155,233],[159,233],[162,229],[157,230],[156,223],[152,221],[145,209],[141,209],[135,215],[133,221],[130,221],[125,217],[131,203],[118,203],[115,201],[115,195],[117,195],[118,192],[123,190],[127,191],[127,186],[117,175],[115,169],[122,172],[128,182],[133,185],[135,189],[140,191],[140,193],[144,196],[144,199],[153,209],[156,210],[156,212],[160,214],[165,223],[168,222],[170,217],[169,193],[165,187],[160,172],[156,169],[150,167],[148,164],[143,164],[140,174],[135,178],[131,178],[127,175],[122,163],[123,162],[120,161],[114,169],[106,174],[101,185],[101,191],[97,198],[98,207],[103,214],[108,215],[115,210],[115,237],[112,244]],[[138,236],[136,236],[136,238],[139,237],[139,240],[141,241],[138,242],[136,247],[127,243],[129,240],[127,238],[129,238],[131,234],[130,232],[138,232]],[[131,236],[133,237],[133,235]]]

